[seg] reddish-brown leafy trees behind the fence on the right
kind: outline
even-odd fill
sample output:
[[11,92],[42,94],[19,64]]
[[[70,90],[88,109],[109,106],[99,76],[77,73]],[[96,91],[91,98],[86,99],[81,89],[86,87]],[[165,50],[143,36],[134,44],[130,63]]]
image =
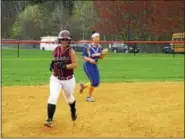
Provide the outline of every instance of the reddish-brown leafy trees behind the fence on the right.
[[109,36],[147,39],[184,31],[183,0],[94,1],[94,4],[100,19],[95,28]]

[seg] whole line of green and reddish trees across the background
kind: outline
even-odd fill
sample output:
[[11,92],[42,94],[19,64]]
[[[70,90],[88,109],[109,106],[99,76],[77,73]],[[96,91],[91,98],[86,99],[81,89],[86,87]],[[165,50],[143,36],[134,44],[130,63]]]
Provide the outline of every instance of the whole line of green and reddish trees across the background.
[[184,32],[184,1],[1,1],[2,38],[34,39],[69,29],[74,40],[91,32],[103,40],[170,40]]

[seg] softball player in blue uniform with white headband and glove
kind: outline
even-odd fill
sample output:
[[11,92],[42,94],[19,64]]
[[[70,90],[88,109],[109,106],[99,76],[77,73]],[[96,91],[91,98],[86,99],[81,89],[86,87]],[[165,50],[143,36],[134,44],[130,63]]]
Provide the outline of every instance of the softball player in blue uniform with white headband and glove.
[[80,93],[82,93],[85,88],[89,88],[89,96],[86,98],[86,101],[88,102],[95,101],[92,97],[92,93],[94,88],[98,87],[100,83],[100,75],[97,63],[98,59],[103,58],[103,55],[101,54],[102,47],[99,45],[100,34],[93,31],[91,38],[92,43],[85,45],[82,53],[82,57],[84,59],[83,68],[90,82],[80,83]]

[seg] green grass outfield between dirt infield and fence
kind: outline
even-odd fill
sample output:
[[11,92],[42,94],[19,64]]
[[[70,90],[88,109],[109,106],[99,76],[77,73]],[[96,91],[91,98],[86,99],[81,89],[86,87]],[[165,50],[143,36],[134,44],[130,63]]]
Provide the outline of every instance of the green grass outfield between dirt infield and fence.
[[[81,53],[76,81],[87,81],[83,72]],[[2,50],[2,85],[48,84],[51,72],[51,51]],[[184,55],[171,54],[113,54],[99,61],[101,82],[184,81]]]

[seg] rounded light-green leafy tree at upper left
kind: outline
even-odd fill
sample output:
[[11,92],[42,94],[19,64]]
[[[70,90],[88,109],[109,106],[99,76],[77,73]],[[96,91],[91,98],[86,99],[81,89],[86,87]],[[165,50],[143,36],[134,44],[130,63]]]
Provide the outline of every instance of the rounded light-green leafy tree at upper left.
[[40,39],[49,27],[49,12],[41,5],[27,6],[12,27],[12,36],[22,39]]

